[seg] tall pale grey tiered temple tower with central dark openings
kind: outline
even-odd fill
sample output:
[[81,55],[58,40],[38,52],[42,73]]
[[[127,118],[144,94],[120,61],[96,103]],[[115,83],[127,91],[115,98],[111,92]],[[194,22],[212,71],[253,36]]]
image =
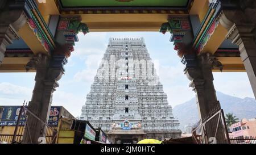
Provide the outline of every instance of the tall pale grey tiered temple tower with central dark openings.
[[108,132],[113,123],[129,120],[142,125],[147,138],[179,137],[179,121],[172,114],[143,37],[110,38],[82,120]]

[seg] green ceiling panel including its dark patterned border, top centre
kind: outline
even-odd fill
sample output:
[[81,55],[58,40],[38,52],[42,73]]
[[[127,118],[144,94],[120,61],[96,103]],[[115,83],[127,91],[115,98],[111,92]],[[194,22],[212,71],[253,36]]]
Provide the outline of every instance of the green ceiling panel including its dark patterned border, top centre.
[[[176,1],[176,2],[175,2]],[[83,1],[80,0],[57,0],[56,4],[61,14],[109,14],[109,13],[175,13],[188,14],[194,0],[154,1],[134,0],[129,2],[118,2],[102,0]],[[103,5],[102,5],[103,4]]]

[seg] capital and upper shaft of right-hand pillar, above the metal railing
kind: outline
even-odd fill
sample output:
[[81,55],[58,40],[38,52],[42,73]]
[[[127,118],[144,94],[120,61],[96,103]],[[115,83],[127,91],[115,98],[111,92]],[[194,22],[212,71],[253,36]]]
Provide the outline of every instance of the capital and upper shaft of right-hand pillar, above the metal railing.
[[191,81],[189,87],[196,93],[199,116],[203,118],[212,107],[219,104],[213,86],[212,68],[221,68],[222,65],[210,53],[184,55],[181,62],[185,65],[185,75]]

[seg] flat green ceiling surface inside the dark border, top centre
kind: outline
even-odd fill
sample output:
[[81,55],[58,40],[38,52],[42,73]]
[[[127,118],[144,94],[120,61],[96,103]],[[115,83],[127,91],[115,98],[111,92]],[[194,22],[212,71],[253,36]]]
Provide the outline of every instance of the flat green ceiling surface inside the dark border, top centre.
[[115,0],[60,0],[63,7],[92,7],[92,6],[187,6],[188,0],[134,0],[118,2]]

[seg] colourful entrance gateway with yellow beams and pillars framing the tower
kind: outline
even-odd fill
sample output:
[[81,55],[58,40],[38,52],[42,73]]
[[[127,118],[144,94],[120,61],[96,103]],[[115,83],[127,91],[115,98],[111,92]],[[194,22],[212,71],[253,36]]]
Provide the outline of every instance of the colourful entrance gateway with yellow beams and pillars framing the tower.
[[[57,81],[65,72],[73,45],[79,41],[78,32],[160,28],[160,32],[172,34],[171,41],[196,94],[199,118],[205,124],[210,119],[208,114],[220,109],[212,72],[247,72],[256,96],[255,8],[254,0],[3,0],[0,72],[36,72],[28,108],[46,122]],[[195,133],[195,137],[203,137],[204,143],[210,137],[216,137],[217,143],[227,143],[223,132],[215,132],[225,123],[222,126],[217,121],[203,127],[206,135]],[[24,142],[38,143],[44,128],[29,115],[28,122],[32,136]]]

